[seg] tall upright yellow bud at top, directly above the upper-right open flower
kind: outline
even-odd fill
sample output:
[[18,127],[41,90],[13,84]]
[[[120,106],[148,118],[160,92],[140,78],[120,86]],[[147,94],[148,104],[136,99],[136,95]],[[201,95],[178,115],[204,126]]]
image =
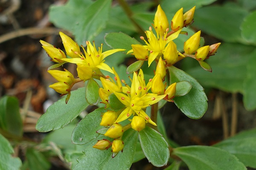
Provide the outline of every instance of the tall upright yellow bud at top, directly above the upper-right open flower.
[[158,35],[164,35],[166,29],[169,28],[169,22],[160,5],[157,6],[157,12],[154,16],[154,28]]

